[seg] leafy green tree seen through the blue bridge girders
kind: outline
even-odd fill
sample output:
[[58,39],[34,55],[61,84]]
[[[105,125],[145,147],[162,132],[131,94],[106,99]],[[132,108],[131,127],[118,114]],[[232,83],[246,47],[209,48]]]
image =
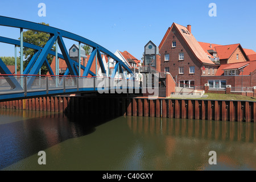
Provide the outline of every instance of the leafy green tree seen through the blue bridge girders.
[[[49,24],[46,24],[44,22],[42,22],[40,24],[49,26]],[[28,31],[23,32],[23,42],[34,44],[34,45],[40,46],[40,47],[44,47],[46,45],[47,41],[49,40],[49,37],[50,37],[50,35],[45,32],[39,32],[39,31],[34,31],[34,30],[28,30]],[[52,51],[55,51],[55,45],[52,47]],[[24,53],[24,59],[25,59],[24,63],[23,63],[23,69],[25,69],[27,67],[28,63],[30,62],[30,60],[32,59],[32,57],[34,56],[34,54],[36,53],[36,50],[24,47],[23,53]],[[51,65],[53,56],[47,55],[47,60],[48,60],[49,64]],[[41,68],[41,74],[46,75],[47,72],[48,72],[47,67],[46,67],[46,65],[43,64],[43,66]]]

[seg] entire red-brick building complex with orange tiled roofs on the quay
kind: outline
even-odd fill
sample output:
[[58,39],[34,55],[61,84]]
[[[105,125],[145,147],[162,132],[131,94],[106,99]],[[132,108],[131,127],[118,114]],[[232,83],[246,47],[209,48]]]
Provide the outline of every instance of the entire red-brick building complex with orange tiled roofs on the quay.
[[225,90],[256,86],[256,52],[240,44],[197,42],[191,26],[173,23],[159,45],[161,72],[168,71],[184,88]]

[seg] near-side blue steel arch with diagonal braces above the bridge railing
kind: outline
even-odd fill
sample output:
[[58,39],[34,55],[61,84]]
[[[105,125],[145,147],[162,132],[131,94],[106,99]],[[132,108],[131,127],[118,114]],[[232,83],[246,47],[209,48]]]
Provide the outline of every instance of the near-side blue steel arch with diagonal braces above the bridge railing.
[[[117,63],[119,63],[119,65],[121,67],[125,68],[127,70],[127,73],[133,73],[130,70],[130,68],[127,67],[127,65],[125,63],[123,63],[112,52],[108,51],[108,49],[92,42],[91,40],[88,40],[86,38],[83,38],[82,36],[73,34],[71,32],[60,30],[58,28],[46,26],[46,25],[39,24],[39,23],[28,22],[26,20],[9,18],[9,17],[6,17],[6,16],[0,16],[0,26],[23,28],[23,29],[26,29],[26,30],[35,30],[35,31],[40,31],[40,32],[46,32],[46,33],[51,35],[51,37],[49,38],[49,40],[48,40],[46,46],[44,46],[44,48],[42,48],[42,47],[40,47],[40,49],[38,49],[38,47],[34,48],[34,49],[38,49],[38,51],[40,50],[40,55],[38,56],[38,59],[36,59],[34,65],[32,66],[32,68],[30,70],[30,72],[28,73],[29,75],[36,75],[39,72],[40,67],[42,67],[42,64],[44,63],[44,61],[46,59],[46,56],[49,53],[52,54],[52,55],[55,55],[55,52],[51,51],[51,48],[52,48],[53,44],[55,43],[56,39],[58,40],[59,47],[61,49],[61,53],[63,53],[63,55],[59,56],[59,54],[58,54],[58,56],[64,58],[65,62],[67,63],[69,72],[72,76],[78,76],[79,75],[79,72],[77,71],[77,68],[75,66],[74,61],[71,60],[71,58],[68,55],[67,48],[65,47],[65,44],[63,42],[63,38],[75,40],[77,42],[81,42],[82,44],[90,46],[90,47],[93,48],[94,53],[96,53],[96,51],[98,52],[99,56],[100,56],[100,52],[105,53],[105,55],[107,55],[110,58],[112,58],[113,60],[117,61]],[[5,39],[5,38],[2,38],[2,40],[3,39]],[[7,43],[11,43],[11,41],[9,42],[9,40],[11,40],[11,39],[8,39]],[[20,45],[18,42],[19,42],[19,40],[16,40],[15,43],[12,43],[12,44]],[[24,43],[23,46],[26,47],[28,45],[26,43]],[[31,47],[34,47],[34,46],[35,45],[33,45],[33,46],[29,45],[28,47],[31,48]],[[94,57],[95,57],[95,55],[92,57],[91,61],[93,61]],[[104,68],[104,64],[101,64],[101,63],[102,63],[102,60],[100,59],[101,69],[104,69],[104,70],[102,70],[102,73],[105,73],[106,70]],[[86,65],[83,76],[85,76],[85,75],[88,76],[88,74],[92,75],[92,72],[90,71],[91,65],[92,65],[92,63]],[[115,69],[115,72],[117,72],[117,69]]]

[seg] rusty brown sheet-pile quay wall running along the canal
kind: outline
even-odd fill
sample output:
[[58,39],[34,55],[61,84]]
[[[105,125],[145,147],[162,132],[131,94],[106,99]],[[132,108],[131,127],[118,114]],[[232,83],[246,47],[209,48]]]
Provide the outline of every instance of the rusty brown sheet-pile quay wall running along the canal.
[[147,97],[53,96],[0,102],[1,108],[66,112],[69,114],[129,115],[256,122],[256,102],[188,100]]

